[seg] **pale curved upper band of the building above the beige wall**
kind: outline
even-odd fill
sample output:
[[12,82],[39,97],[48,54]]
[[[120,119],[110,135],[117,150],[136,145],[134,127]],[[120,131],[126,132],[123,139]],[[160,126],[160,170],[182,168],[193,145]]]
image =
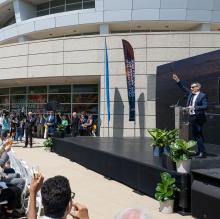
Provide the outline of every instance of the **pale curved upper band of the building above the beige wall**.
[[102,33],[102,25],[105,33],[220,29],[219,0],[95,0],[92,9],[41,17],[33,0],[3,2],[13,2],[16,24],[0,29],[0,43]]

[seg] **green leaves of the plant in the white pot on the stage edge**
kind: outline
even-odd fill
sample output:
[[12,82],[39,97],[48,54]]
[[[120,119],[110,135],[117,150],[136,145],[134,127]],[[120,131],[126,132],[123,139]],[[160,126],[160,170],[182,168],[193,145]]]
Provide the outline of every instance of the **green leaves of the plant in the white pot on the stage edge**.
[[196,141],[185,141],[176,139],[170,145],[170,157],[174,162],[188,160],[195,153]]

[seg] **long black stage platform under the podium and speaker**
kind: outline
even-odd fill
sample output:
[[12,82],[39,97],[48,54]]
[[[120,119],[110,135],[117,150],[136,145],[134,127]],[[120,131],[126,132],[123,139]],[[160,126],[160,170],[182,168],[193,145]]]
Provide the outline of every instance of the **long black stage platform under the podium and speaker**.
[[[150,138],[54,138],[53,151],[105,177],[153,197],[160,173],[167,171],[181,189],[176,208],[190,211],[191,175],[167,170],[162,159],[152,156]],[[220,167],[220,146],[207,145],[208,157],[193,159],[193,169]]]

